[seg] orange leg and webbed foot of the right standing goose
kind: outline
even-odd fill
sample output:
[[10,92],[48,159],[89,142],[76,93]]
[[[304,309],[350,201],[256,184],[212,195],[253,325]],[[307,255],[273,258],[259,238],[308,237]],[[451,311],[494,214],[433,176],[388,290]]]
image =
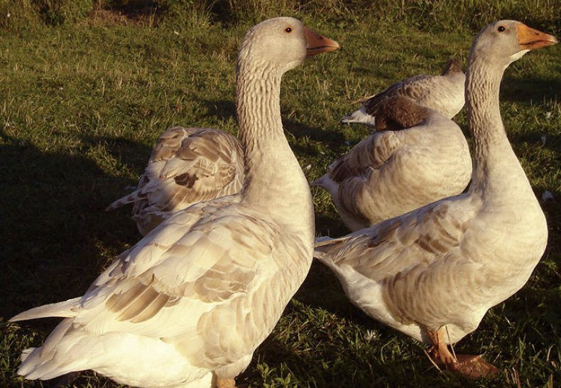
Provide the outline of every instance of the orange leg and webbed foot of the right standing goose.
[[477,379],[479,377],[491,377],[499,370],[489,362],[483,360],[481,355],[452,355],[445,341],[442,340],[446,335],[445,328],[437,331],[427,330],[427,334],[432,341],[432,359],[437,364],[444,364],[448,370],[454,370],[464,376]]

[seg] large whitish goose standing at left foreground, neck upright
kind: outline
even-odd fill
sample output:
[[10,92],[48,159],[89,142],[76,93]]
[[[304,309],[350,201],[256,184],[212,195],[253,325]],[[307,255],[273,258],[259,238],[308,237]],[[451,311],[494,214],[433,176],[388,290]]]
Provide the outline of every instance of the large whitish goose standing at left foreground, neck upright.
[[312,196],[284,136],[280,80],[338,48],[295,18],[246,33],[236,68],[241,192],[175,212],[83,296],[11,318],[64,318],[42,346],[23,350],[18,374],[94,370],[136,387],[234,387],[312,262]]

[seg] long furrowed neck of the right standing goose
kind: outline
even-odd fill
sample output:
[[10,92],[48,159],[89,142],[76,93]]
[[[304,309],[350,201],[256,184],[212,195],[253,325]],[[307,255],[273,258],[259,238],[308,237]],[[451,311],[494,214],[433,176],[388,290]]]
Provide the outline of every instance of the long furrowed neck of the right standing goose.
[[[499,110],[499,87],[506,66],[497,61],[469,56],[466,74],[466,109],[474,136],[474,171],[470,193],[484,200],[533,192],[518,158],[506,137]],[[504,195],[501,195],[504,194]]]

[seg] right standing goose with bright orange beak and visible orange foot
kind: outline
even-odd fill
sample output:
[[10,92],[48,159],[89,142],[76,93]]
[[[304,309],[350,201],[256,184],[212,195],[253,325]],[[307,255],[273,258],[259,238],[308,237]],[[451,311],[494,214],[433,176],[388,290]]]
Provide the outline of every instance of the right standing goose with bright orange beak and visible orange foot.
[[501,120],[501,78],[528,51],[555,43],[508,20],[476,36],[466,80],[475,143],[467,193],[344,237],[317,239],[315,257],[332,269],[352,303],[431,343],[435,360],[469,377],[497,370],[481,356],[454,357],[447,344],[472,333],[489,308],[524,286],[548,241],[545,216]]

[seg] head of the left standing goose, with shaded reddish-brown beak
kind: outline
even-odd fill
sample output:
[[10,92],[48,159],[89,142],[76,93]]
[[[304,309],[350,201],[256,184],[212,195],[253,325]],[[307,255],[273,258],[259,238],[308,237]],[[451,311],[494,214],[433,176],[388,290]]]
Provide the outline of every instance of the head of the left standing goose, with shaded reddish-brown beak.
[[296,18],[272,18],[251,28],[241,43],[238,64],[261,64],[280,73],[312,55],[339,49],[339,43],[312,31]]

